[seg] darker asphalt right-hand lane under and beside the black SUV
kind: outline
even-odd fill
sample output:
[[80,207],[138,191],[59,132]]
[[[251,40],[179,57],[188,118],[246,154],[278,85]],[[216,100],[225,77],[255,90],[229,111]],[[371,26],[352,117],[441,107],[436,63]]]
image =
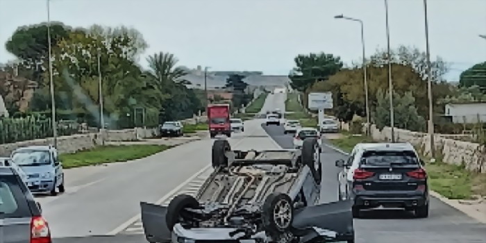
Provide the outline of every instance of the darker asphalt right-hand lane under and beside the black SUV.
[[[283,126],[262,126],[284,149],[292,149],[292,135],[283,134]],[[337,201],[337,173],[334,163],[346,159],[323,142],[323,181],[321,202]],[[410,243],[440,242],[466,243],[486,242],[486,224],[464,215],[438,199],[430,200],[430,215],[427,219],[414,219],[411,212],[403,210],[374,210],[355,219],[356,242],[358,243]]]

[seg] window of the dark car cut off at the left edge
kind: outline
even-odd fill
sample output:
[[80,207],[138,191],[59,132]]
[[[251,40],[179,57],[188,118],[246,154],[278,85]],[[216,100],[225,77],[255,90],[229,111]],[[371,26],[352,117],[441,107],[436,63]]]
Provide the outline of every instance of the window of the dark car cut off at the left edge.
[[0,177],[0,215],[6,218],[30,217],[26,195],[16,176]]

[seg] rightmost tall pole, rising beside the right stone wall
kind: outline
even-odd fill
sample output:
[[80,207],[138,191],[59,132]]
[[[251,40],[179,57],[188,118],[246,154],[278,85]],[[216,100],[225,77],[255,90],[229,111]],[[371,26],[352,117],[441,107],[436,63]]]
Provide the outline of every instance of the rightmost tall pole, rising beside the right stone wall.
[[427,79],[428,79],[428,135],[430,136],[430,156],[435,158],[434,143],[434,120],[433,120],[433,101],[432,101],[432,72],[430,71],[430,49],[428,45],[428,17],[427,0],[424,0],[425,31],[426,31],[426,56],[427,56]]

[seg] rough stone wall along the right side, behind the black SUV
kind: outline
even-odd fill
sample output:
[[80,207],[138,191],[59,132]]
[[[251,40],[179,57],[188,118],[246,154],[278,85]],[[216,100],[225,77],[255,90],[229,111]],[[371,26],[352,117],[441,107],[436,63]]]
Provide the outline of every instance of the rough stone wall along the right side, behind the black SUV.
[[[430,137],[427,133],[412,132],[394,128],[397,142],[410,142],[420,149],[424,156],[430,156]],[[371,126],[371,137],[375,141],[391,141],[392,128],[385,127],[379,131],[375,125]],[[446,138],[437,134],[434,136],[437,157],[451,165],[464,165],[471,171],[486,173],[486,147],[473,142],[464,142]]]

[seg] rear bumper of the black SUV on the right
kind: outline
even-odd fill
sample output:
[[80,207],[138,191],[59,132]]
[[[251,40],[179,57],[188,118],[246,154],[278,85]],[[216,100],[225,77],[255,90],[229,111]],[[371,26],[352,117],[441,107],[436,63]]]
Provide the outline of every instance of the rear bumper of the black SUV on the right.
[[428,193],[421,191],[366,191],[355,192],[354,206],[376,208],[410,208],[428,203]]

